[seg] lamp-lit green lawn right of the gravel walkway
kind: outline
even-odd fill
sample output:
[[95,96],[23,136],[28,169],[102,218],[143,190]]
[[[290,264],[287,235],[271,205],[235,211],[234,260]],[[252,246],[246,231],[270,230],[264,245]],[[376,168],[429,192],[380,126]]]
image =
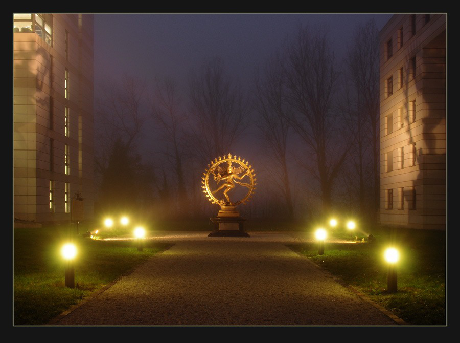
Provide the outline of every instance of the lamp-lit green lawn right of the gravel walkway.
[[[369,296],[411,325],[446,325],[446,233],[433,230],[381,229],[374,243],[289,245]],[[386,247],[400,250],[398,292],[387,293]]]

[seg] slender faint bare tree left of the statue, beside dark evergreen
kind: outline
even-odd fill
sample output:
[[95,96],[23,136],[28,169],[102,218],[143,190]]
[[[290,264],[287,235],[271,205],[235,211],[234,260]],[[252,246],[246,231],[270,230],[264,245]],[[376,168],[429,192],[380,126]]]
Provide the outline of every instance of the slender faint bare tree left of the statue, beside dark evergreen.
[[156,82],[151,115],[162,138],[163,154],[177,177],[178,205],[181,215],[187,215],[190,204],[187,196],[183,163],[186,162],[187,141],[184,125],[186,116],[180,110],[180,98],[173,81]]

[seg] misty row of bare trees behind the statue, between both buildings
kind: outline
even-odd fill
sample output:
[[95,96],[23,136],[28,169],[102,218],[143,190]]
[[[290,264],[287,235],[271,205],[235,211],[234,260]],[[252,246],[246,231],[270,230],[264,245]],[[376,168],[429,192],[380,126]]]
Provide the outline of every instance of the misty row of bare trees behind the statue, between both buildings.
[[327,28],[298,27],[260,61],[250,84],[210,56],[179,84],[124,76],[100,86],[95,113],[96,213],[209,218],[201,177],[232,153],[258,173],[239,210],[291,222],[330,213],[375,222],[379,208],[379,46],[358,25],[343,60]]

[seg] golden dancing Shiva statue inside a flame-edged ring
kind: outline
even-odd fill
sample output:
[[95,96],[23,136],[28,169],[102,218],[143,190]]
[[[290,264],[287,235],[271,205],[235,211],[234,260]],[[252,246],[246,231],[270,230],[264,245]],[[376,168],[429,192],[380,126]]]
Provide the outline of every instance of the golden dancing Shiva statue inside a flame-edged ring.
[[[237,164],[238,166],[234,166],[232,163]],[[255,181],[257,180],[255,178],[256,173],[254,173],[254,169],[251,169],[251,167],[252,166],[249,165],[249,162],[241,159],[241,157],[238,157],[237,159],[236,155],[234,155],[232,158],[232,154],[228,154],[227,156],[223,155],[222,157],[219,156],[214,159],[214,161],[211,161],[211,163],[208,164],[206,172],[203,173],[204,177],[201,178],[205,197],[208,198],[212,204],[219,204],[222,209],[224,207],[234,208],[236,205],[246,202],[250,197],[252,197],[252,195],[254,195],[256,186]],[[240,176],[241,173],[244,174]],[[247,183],[238,181],[244,179],[245,177],[247,177]],[[212,182],[212,180],[214,180],[215,183]],[[246,187],[248,192],[242,199],[238,201],[231,201],[228,196],[228,192],[235,188],[235,184]],[[226,201],[224,199],[219,199],[216,196],[216,194],[223,188],[225,189],[222,193]]]

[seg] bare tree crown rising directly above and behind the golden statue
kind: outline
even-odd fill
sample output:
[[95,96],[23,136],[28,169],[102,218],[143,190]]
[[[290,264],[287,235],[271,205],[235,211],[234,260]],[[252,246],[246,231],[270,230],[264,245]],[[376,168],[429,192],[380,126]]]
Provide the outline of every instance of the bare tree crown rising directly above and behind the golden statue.
[[195,152],[203,162],[227,154],[245,129],[248,98],[224,70],[220,58],[205,61],[189,82],[190,113],[195,119]]

